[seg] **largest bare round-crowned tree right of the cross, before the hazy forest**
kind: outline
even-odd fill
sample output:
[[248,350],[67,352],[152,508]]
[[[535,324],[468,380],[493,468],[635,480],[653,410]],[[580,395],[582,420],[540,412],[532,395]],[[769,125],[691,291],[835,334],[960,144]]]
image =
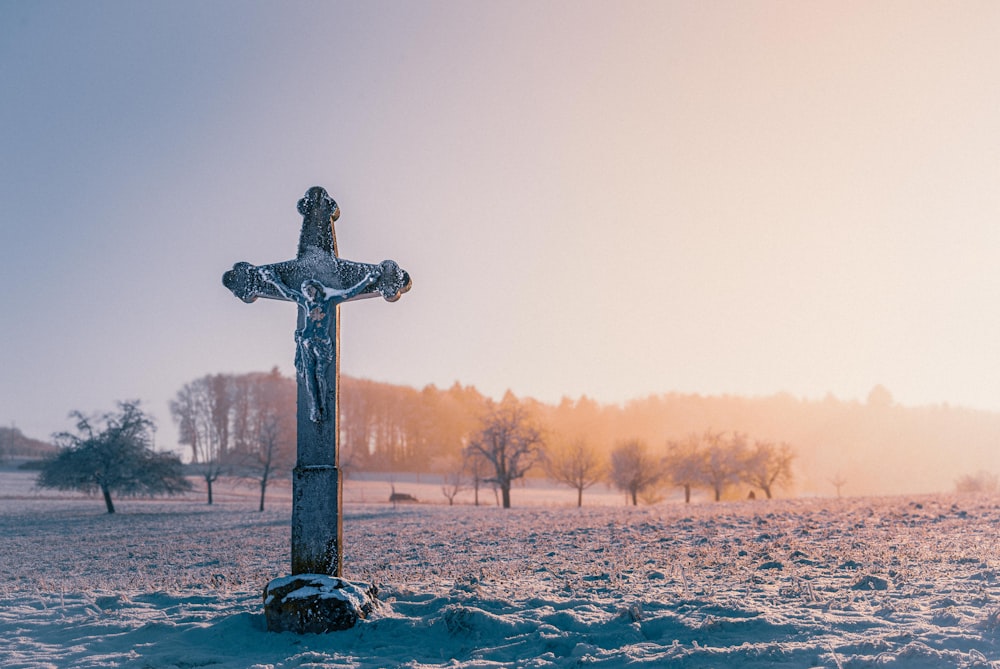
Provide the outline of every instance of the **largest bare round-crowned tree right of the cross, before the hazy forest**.
[[524,477],[539,460],[544,445],[541,430],[528,410],[508,391],[499,403],[489,402],[478,432],[466,450],[481,455],[492,468],[503,508],[510,508],[511,483]]

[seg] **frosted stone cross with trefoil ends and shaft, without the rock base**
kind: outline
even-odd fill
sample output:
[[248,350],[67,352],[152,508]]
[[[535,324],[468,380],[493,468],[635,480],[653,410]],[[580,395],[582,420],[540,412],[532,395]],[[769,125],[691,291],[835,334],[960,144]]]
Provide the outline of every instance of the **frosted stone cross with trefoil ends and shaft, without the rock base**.
[[410,276],[391,260],[342,260],[334,222],[337,203],[320,188],[299,200],[302,233],[293,260],[239,262],[222,283],[244,302],[258,297],[295,302],[298,377],[297,457],[292,477],[292,574],[341,576],[343,482],[339,469],[340,303],[381,295],[395,302]]

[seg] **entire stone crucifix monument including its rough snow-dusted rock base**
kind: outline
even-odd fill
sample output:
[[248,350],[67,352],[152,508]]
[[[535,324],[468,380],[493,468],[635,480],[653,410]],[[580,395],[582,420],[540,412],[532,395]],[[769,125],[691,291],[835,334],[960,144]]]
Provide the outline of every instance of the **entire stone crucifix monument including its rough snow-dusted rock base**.
[[394,302],[411,281],[392,260],[374,265],[340,258],[334,229],[340,207],[323,188],[310,188],[298,210],[302,231],[293,260],[260,266],[238,262],[223,274],[222,283],[247,303],[265,297],[298,306],[292,576],[264,589],[264,617],[273,632],[322,634],[353,627],[378,603],[374,586],[340,578],[340,304],[374,295]]

